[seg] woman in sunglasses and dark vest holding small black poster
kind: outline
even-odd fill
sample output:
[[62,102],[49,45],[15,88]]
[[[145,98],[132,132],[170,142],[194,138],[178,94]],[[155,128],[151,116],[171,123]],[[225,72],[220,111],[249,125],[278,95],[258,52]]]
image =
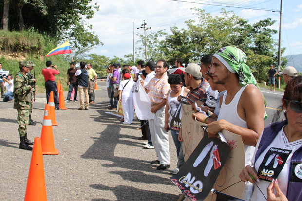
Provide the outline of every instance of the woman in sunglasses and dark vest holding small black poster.
[[282,108],[286,120],[264,128],[254,167],[246,166],[239,175],[243,182],[256,181],[259,187],[254,188],[251,200],[302,201],[302,76],[286,85]]

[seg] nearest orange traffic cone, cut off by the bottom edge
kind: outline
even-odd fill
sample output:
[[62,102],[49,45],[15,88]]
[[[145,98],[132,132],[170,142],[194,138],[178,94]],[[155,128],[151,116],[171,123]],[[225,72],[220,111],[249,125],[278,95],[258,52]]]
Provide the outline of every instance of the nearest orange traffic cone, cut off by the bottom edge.
[[41,138],[35,137],[24,201],[47,201]]

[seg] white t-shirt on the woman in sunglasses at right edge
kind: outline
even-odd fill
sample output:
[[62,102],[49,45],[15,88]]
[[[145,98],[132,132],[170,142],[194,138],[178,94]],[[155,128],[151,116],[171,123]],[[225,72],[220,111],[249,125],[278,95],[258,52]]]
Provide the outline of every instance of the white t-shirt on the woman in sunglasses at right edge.
[[[260,139],[261,139],[262,134],[263,134],[263,133],[261,133],[261,135],[259,137],[259,140],[257,142],[257,145],[256,145],[256,149],[255,149],[255,152],[254,152],[253,159],[252,159],[252,165],[254,165],[255,170],[258,172],[260,165],[262,163],[265,163],[264,165],[267,165],[267,166],[265,166],[265,168],[267,167],[266,168],[267,170],[274,171],[273,173],[276,173],[276,170],[277,170],[278,166],[284,165],[283,168],[282,168],[282,170],[280,171],[280,174],[278,175],[277,179],[278,179],[278,184],[279,184],[279,187],[280,187],[281,191],[283,192],[284,195],[286,195],[286,192],[287,192],[287,183],[288,183],[288,174],[289,174],[289,171],[290,171],[289,168],[290,168],[290,163],[291,163],[291,157],[292,157],[293,153],[298,148],[300,148],[300,146],[302,145],[302,139],[296,140],[294,142],[289,143],[288,139],[287,139],[287,137],[286,137],[286,135],[285,135],[285,133],[283,131],[283,128],[279,131],[278,135],[271,142],[271,144],[259,155],[256,163],[253,164],[254,161],[255,161],[255,155],[256,155],[256,152],[258,150]],[[268,156],[268,160],[264,161],[264,157],[265,157],[266,153],[269,150],[277,150],[277,149],[290,150],[292,152],[288,155],[288,158],[285,161],[284,159],[280,160],[281,158],[279,158],[279,157],[281,156],[281,154],[279,156],[279,152],[273,153],[272,151],[270,151],[268,153],[268,155],[267,155]],[[283,156],[281,156],[281,157],[283,158]],[[283,163],[285,163],[285,164],[283,164]],[[271,167],[272,164],[274,165],[273,167]],[[269,174],[267,174],[267,175],[269,175]],[[264,177],[269,177],[267,175],[264,174]],[[270,182],[269,181],[265,181],[265,180],[260,180],[260,183],[257,183],[258,187],[262,190],[262,192],[264,193],[265,197],[267,197],[266,188],[267,188],[267,186],[269,184],[270,184]],[[257,188],[257,186],[254,186],[254,193],[252,195],[252,201],[266,201],[266,199],[264,198],[264,196],[262,195],[262,193],[259,191],[259,189]]]

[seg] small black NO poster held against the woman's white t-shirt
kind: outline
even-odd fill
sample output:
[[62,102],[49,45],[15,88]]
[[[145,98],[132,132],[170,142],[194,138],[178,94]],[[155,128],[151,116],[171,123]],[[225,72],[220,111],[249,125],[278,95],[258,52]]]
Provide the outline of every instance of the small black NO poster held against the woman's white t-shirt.
[[273,179],[277,179],[291,152],[291,150],[281,148],[270,148],[259,166],[259,179],[268,182],[271,182]]

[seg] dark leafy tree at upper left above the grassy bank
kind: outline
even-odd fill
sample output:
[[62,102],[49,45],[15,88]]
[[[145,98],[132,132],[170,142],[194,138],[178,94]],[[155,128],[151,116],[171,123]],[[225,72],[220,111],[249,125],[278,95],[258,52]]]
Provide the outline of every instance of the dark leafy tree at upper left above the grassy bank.
[[[99,6],[92,0],[10,0],[10,12],[17,13],[2,20],[9,21],[9,30],[33,27],[40,33],[48,34],[60,40],[68,38],[73,47],[93,47],[103,44],[85,20],[93,18]],[[7,0],[5,1],[7,3]],[[0,16],[7,13],[7,5],[0,2]],[[26,12],[22,12],[26,10]]]

